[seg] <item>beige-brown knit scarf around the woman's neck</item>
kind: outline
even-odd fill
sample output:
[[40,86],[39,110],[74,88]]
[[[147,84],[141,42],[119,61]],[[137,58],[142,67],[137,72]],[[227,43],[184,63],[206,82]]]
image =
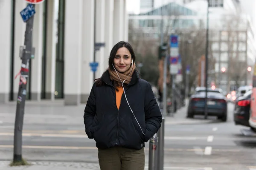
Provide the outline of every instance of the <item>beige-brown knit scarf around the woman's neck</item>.
[[[132,75],[133,75],[133,73],[134,73],[135,68],[136,68],[136,65],[135,65],[135,62],[134,62],[133,66],[131,65],[130,68],[129,68],[127,71],[125,71],[125,72],[123,72],[123,73],[120,73],[120,72],[117,71],[117,73],[118,73],[120,79],[122,80],[122,82],[125,80],[124,83],[125,83],[125,84],[129,84],[129,82],[131,81],[131,77],[132,77]],[[109,75],[110,75],[110,79],[111,79],[111,80],[115,80],[115,81],[117,81],[117,82],[120,82],[120,79],[119,79],[119,77],[117,76],[115,70],[112,71],[112,70],[110,69],[110,67],[108,67],[108,73],[109,73]],[[130,73],[131,73],[131,74],[130,74]],[[129,75],[129,74],[130,74],[130,75]],[[127,76],[129,76],[129,77],[127,77]]]

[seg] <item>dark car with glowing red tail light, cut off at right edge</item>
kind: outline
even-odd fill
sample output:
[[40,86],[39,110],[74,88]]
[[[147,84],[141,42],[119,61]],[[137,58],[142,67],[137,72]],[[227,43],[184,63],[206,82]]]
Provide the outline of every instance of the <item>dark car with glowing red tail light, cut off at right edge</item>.
[[237,98],[234,108],[234,122],[236,125],[250,127],[250,98],[252,91],[248,91],[243,96]]

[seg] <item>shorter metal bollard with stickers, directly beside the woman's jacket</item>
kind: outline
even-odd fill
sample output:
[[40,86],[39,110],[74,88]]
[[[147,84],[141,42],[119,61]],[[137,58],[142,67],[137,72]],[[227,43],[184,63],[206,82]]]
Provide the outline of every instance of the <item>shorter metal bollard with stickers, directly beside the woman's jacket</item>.
[[157,133],[149,140],[148,170],[157,170]]

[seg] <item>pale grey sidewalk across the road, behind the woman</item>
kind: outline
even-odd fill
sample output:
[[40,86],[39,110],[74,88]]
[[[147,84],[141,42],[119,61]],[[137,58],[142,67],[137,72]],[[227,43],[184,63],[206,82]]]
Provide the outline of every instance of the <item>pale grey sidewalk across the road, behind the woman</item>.
[[[0,105],[0,124],[15,122],[15,102]],[[78,106],[64,106],[62,100],[51,101],[28,101],[25,106],[24,124],[36,125],[76,125],[84,128],[82,116],[85,104]],[[212,120],[186,119],[187,108],[182,107],[174,116],[165,116],[166,125],[199,124],[209,123]]]

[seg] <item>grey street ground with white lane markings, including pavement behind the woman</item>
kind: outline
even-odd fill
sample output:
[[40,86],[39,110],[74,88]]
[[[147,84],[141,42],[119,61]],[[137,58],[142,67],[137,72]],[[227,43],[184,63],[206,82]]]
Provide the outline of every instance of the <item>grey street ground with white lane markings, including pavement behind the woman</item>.
[[[4,160],[11,160],[13,154],[13,106],[0,106],[0,159],[3,164],[7,164]],[[227,122],[218,122],[212,117],[209,120],[185,119],[186,108],[180,109],[174,117],[166,117],[165,169],[256,170],[256,138],[241,135],[240,129],[246,127],[234,125],[233,105],[228,107]],[[84,133],[83,108],[63,107],[61,103],[26,105],[23,157],[44,166],[64,161],[63,166],[79,168],[90,162],[95,170],[99,169],[95,164],[95,143]],[[147,165],[148,144],[145,153]]]

